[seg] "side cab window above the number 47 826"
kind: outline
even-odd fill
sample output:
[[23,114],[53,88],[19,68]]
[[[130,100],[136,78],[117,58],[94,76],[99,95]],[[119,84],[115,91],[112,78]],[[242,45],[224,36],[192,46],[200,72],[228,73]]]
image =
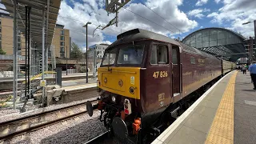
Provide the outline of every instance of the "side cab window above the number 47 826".
[[167,46],[153,45],[150,55],[150,64],[166,64],[168,63],[168,50]]

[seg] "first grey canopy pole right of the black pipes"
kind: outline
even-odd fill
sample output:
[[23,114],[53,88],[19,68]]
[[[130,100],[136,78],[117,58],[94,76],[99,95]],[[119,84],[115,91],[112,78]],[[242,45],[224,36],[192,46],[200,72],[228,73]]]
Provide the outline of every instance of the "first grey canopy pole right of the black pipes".
[[[42,80],[45,79],[45,9],[42,9]],[[45,87],[42,87],[42,106],[45,102]]]

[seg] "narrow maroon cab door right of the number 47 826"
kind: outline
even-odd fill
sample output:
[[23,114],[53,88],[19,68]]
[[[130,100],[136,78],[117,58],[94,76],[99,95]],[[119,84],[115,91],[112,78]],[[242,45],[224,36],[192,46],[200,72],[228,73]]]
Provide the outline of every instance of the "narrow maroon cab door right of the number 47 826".
[[181,92],[181,62],[178,46],[172,47],[172,65],[173,94],[175,97]]

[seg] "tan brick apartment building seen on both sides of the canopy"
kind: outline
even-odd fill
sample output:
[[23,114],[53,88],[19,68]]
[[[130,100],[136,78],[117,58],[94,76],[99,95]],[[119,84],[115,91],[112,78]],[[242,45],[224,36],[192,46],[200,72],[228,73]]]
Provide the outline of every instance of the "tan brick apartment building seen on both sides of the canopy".
[[[63,25],[56,25],[52,41],[55,57],[70,58],[71,38],[70,30]],[[18,55],[25,56],[25,37],[18,31]],[[7,55],[14,54],[14,22],[10,14],[0,13],[0,47]],[[49,51],[49,56],[51,56]]]

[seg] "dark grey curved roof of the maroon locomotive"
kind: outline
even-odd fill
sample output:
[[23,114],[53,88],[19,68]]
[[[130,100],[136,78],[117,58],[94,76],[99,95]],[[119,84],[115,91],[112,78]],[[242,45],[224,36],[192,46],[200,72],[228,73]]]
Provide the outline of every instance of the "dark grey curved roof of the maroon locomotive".
[[186,44],[182,42],[177,42],[172,38],[168,38],[162,34],[156,34],[154,32],[148,31],[148,30],[142,30],[142,29],[134,29],[126,31],[122,34],[119,34],[117,36],[117,40],[113,42],[106,50],[110,49],[111,47],[117,46],[123,42],[133,42],[138,40],[156,40],[161,42],[168,42],[176,46],[181,46],[183,51],[186,51],[191,54],[200,54],[202,56],[208,57],[208,58],[216,58],[211,54],[207,54],[206,52],[203,52],[202,50],[198,50],[196,48],[193,48],[191,46],[187,46]]

